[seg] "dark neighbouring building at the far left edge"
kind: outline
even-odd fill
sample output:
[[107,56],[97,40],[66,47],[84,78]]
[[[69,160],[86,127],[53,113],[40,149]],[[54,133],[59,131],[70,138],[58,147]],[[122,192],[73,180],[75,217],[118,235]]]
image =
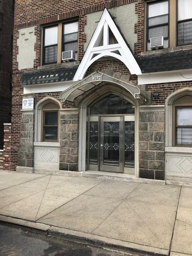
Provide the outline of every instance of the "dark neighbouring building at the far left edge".
[[3,148],[3,123],[11,118],[11,74],[12,74],[12,35],[13,0],[3,1],[2,40],[0,45],[0,149]]

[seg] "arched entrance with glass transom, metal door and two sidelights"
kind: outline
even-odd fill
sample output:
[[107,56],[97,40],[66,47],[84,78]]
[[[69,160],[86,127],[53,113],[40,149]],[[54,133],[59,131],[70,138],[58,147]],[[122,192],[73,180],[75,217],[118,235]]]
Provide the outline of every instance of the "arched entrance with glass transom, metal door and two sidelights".
[[134,104],[114,92],[87,106],[87,170],[135,173],[134,112]]

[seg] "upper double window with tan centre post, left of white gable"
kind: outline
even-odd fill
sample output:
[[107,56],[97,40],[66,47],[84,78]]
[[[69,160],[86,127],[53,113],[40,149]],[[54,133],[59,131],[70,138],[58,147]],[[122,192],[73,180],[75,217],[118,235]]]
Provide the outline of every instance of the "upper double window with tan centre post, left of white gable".
[[71,50],[77,60],[78,21],[44,27],[43,65],[61,63],[62,52]]

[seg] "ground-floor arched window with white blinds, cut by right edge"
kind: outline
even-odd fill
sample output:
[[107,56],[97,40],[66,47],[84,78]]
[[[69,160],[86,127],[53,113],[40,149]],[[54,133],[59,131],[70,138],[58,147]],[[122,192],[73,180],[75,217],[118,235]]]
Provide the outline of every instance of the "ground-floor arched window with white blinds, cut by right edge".
[[174,100],[172,117],[172,146],[192,147],[192,95]]

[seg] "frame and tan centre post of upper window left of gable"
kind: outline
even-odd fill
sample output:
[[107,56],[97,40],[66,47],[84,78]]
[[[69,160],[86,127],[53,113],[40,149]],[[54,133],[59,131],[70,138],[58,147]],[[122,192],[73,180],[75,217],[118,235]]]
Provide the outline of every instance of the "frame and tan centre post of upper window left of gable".
[[[51,24],[44,24],[43,26],[41,26],[41,35],[42,36],[41,36],[41,62],[40,62],[40,66],[57,65],[57,64],[62,63],[62,60],[61,60],[61,54],[62,54],[62,26],[63,26],[63,24],[68,24],[68,23],[72,23],[72,22],[76,22],[76,21],[78,22],[78,40],[77,40],[77,43],[78,43],[77,60],[78,60],[78,54],[79,54],[79,17],[74,17],[74,18],[68,18],[66,20],[58,20],[57,22],[53,22]],[[54,26],[58,26],[57,62],[45,64],[44,63],[44,40],[45,40],[44,31],[45,31],[45,28],[54,27]]]

